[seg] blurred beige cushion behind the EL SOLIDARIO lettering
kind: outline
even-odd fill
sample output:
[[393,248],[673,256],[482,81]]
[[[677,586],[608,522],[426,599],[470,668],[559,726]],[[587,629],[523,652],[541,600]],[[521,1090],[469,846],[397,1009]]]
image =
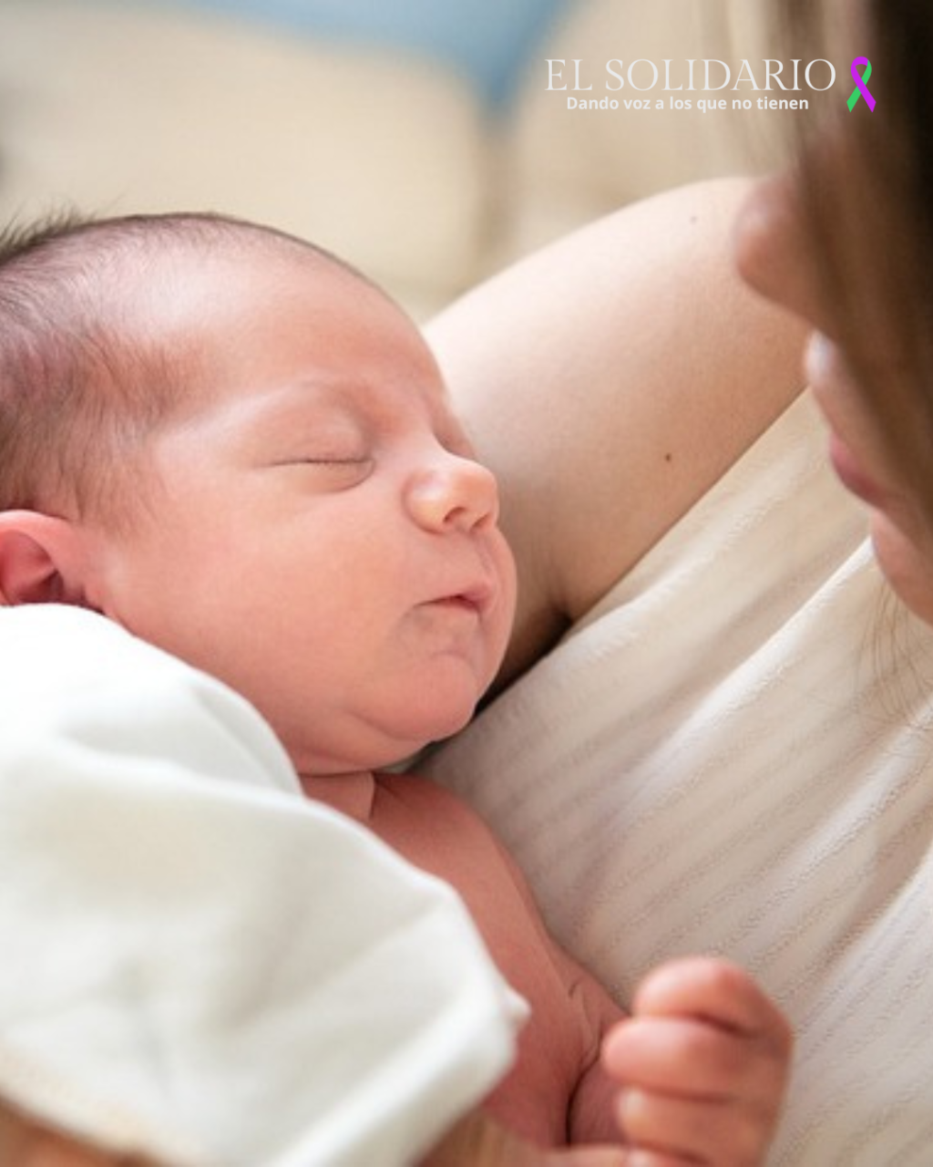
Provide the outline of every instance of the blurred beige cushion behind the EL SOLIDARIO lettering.
[[[774,141],[781,123],[757,107],[749,113],[731,109],[731,98],[755,97],[750,86],[742,91],[666,92],[665,60],[671,61],[671,86],[688,88],[688,58],[696,58],[696,85],[703,84],[702,60],[721,60],[731,65],[732,83],[743,57],[755,62],[776,56],[777,50],[762,30],[762,11],[756,0],[580,0],[570,5],[520,88],[512,116],[507,149],[507,175],[503,204],[507,226],[503,233],[500,261],[524,254],[608,211],[659,190],[697,179],[760,169],[774,158]],[[548,58],[555,64],[554,89],[548,90]],[[629,84],[634,61],[654,63],[659,82],[653,89],[652,70],[639,64]],[[581,91],[575,92],[580,64]],[[623,62],[625,85],[606,72],[606,62]],[[760,75],[760,68],[759,68]],[[710,67],[710,84],[722,74]],[[560,89],[566,85],[566,91]],[[591,91],[583,92],[587,85]],[[568,98],[616,99],[618,109],[568,109]],[[671,110],[669,98],[690,97],[690,110]],[[725,111],[697,109],[697,98],[728,97]],[[664,110],[655,107],[661,98]],[[625,109],[625,99],[650,99],[651,109]],[[786,114],[785,123],[786,124]]]

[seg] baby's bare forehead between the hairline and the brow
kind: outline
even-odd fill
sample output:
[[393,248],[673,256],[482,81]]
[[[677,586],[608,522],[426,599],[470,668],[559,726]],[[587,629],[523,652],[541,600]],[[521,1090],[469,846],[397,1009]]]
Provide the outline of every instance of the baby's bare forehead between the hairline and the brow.
[[378,401],[380,386],[404,383],[449,412],[411,317],[353,268],[299,242],[246,235],[167,249],[136,278],[134,299],[149,337],[210,398],[226,396],[231,373],[265,390],[278,379],[288,386],[300,370],[301,379],[329,385],[335,403]]

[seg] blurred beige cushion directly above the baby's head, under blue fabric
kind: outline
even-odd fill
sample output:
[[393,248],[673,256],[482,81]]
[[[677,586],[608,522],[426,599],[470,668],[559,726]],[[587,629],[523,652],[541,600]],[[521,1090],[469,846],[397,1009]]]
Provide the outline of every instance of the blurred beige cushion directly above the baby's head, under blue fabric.
[[490,141],[422,61],[209,14],[0,6],[0,215],[215,209],[345,256],[416,309],[470,284]]

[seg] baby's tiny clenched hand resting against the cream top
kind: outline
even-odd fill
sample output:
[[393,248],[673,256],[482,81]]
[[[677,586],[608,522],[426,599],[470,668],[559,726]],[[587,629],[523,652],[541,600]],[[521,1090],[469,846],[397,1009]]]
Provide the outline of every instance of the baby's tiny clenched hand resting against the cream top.
[[748,973],[724,960],[652,972],[603,1042],[616,1117],[644,1167],[752,1167],[778,1123],[792,1035]]

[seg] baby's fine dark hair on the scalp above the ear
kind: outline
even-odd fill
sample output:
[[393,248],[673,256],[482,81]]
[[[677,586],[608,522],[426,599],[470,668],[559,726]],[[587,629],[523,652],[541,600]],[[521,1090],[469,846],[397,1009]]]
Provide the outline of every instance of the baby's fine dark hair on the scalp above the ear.
[[129,511],[141,494],[133,454],[197,365],[147,331],[133,293],[167,253],[257,247],[301,249],[363,279],[310,243],[213,214],[59,216],[0,235],[0,511]]

